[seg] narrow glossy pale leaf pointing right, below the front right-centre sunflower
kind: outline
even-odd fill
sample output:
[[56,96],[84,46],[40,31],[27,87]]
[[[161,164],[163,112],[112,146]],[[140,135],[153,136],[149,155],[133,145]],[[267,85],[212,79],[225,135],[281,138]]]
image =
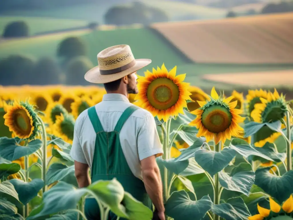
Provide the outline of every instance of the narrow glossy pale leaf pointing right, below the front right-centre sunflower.
[[250,155],[254,155],[254,156],[259,156],[261,158],[264,158],[266,160],[273,161],[273,159],[269,158],[268,156],[264,155],[263,153],[260,153],[258,150],[256,150],[251,145],[249,145],[246,141],[244,141],[240,138],[234,138],[231,141],[229,147],[236,150],[239,154],[241,154],[245,158],[247,158]]

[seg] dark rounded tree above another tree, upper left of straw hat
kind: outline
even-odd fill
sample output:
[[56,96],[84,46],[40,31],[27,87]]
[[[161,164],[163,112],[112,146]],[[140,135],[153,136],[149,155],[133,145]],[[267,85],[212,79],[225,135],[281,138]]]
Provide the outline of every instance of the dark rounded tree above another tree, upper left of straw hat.
[[64,39],[57,49],[57,56],[64,57],[66,60],[84,55],[86,55],[86,45],[79,37]]

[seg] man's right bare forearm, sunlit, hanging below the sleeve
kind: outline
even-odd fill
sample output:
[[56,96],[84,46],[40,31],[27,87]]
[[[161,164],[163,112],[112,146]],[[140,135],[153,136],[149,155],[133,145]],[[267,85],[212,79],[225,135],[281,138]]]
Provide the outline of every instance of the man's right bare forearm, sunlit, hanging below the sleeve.
[[141,165],[144,186],[151,201],[158,212],[165,212],[163,203],[163,186],[160,170],[156,162],[156,156],[153,155],[141,160]]

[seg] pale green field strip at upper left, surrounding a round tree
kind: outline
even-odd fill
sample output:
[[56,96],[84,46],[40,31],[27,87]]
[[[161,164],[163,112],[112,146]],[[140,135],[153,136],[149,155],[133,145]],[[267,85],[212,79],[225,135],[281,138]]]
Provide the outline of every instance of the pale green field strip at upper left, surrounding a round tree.
[[5,26],[12,21],[25,21],[30,29],[30,35],[43,31],[54,31],[64,28],[75,28],[88,25],[88,21],[57,18],[35,18],[21,16],[0,16],[0,34],[3,34]]

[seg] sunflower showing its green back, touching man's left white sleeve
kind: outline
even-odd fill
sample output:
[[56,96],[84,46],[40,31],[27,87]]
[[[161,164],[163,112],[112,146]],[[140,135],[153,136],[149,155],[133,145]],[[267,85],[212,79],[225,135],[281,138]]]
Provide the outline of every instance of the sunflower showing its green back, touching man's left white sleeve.
[[56,122],[52,126],[53,135],[62,138],[67,143],[72,144],[74,123],[74,118],[69,114],[61,114],[61,116],[56,116]]

